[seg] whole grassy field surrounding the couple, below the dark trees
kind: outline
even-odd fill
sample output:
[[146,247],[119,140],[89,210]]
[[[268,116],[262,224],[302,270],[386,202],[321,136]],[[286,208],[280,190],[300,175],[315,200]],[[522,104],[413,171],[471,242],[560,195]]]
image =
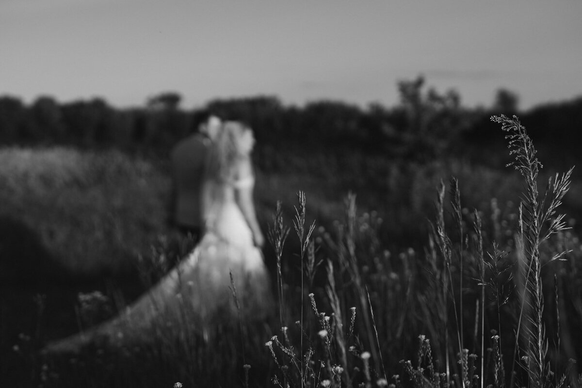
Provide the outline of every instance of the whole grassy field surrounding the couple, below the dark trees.
[[[579,386],[568,360],[582,345],[582,186],[532,175],[535,155],[520,152],[524,175],[339,149],[259,162],[265,235],[279,200],[290,227],[282,250],[265,248],[271,317],[217,327],[212,341],[184,323],[143,347],[65,359],[38,350],[115,315],[191,241],[167,222],[163,158],[3,148],[0,375],[15,387]],[[545,205],[528,207],[550,178]],[[311,239],[293,227],[303,211]]]

